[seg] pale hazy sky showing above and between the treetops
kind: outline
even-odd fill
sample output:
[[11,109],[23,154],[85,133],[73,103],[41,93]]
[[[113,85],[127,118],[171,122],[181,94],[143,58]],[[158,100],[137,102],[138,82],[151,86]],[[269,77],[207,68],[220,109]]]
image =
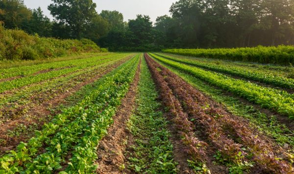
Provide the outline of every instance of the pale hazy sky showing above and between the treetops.
[[[177,0],[93,0],[97,4],[98,13],[101,10],[117,10],[123,13],[124,21],[135,19],[137,14],[149,15],[151,20],[155,22],[158,16],[170,15],[169,9],[172,2]],[[50,12],[47,6],[51,0],[24,0],[28,8],[38,8],[44,11],[45,15],[50,19]]]

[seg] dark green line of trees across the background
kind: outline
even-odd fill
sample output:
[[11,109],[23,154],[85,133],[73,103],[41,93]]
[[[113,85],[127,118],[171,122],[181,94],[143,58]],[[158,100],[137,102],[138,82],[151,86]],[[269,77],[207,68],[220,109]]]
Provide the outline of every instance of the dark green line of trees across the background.
[[96,7],[92,0],[52,0],[50,21],[23,0],[0,0],[0,21],[44,37],[88,38],[117,51],[294,44],[294,0],[179,0],[171,16],[154,24],[146,15],[124,22],[122,13],[98,14]]

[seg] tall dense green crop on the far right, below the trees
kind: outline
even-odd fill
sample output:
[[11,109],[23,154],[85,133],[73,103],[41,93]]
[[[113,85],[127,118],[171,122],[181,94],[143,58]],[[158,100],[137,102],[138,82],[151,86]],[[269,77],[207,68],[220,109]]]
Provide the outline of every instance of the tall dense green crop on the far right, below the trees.
[[163,52],[195,57],[289,65],[294,64],[294,47],[262,47],[236,49],[168,49]]

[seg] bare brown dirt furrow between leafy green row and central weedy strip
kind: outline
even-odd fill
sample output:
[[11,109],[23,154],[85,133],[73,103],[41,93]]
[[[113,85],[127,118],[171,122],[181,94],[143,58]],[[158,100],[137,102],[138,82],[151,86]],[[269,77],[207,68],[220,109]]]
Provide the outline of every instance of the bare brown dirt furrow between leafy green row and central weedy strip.
[[140,80],[141,60],[138,69],[131,84],[129,91],[122,100],[122,105],[118,108],[116,115],[113,117],[114,123],[108,128],[108,134],[104,137],[98,147],[98,164],[97,173],[99,174],[119,174],[120,165],[124,163],[124,152],[127,141],[131,133],[127,130],[127,121],[135,107],[138,83]]

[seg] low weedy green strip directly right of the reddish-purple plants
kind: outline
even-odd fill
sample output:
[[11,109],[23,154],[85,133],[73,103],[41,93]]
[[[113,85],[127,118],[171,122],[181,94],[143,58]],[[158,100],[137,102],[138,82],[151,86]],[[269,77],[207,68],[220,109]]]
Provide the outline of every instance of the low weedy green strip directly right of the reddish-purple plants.
[[169,65],[161,65],[183,78],[202,93],[225,105],[226,109],[234,115],[247,119],[250,122],[250,126],[271,137],[279,146],[288,146],[290,153],[294,153],[294,132],[285,124],[279,123],[275,116],[267,116],[260,110],[255,109],[254,106],[240,102],[238,97],[227,96],[223,94],[223,90],[217,89],[213,85],[205,84],[193,75],[184,73]]

